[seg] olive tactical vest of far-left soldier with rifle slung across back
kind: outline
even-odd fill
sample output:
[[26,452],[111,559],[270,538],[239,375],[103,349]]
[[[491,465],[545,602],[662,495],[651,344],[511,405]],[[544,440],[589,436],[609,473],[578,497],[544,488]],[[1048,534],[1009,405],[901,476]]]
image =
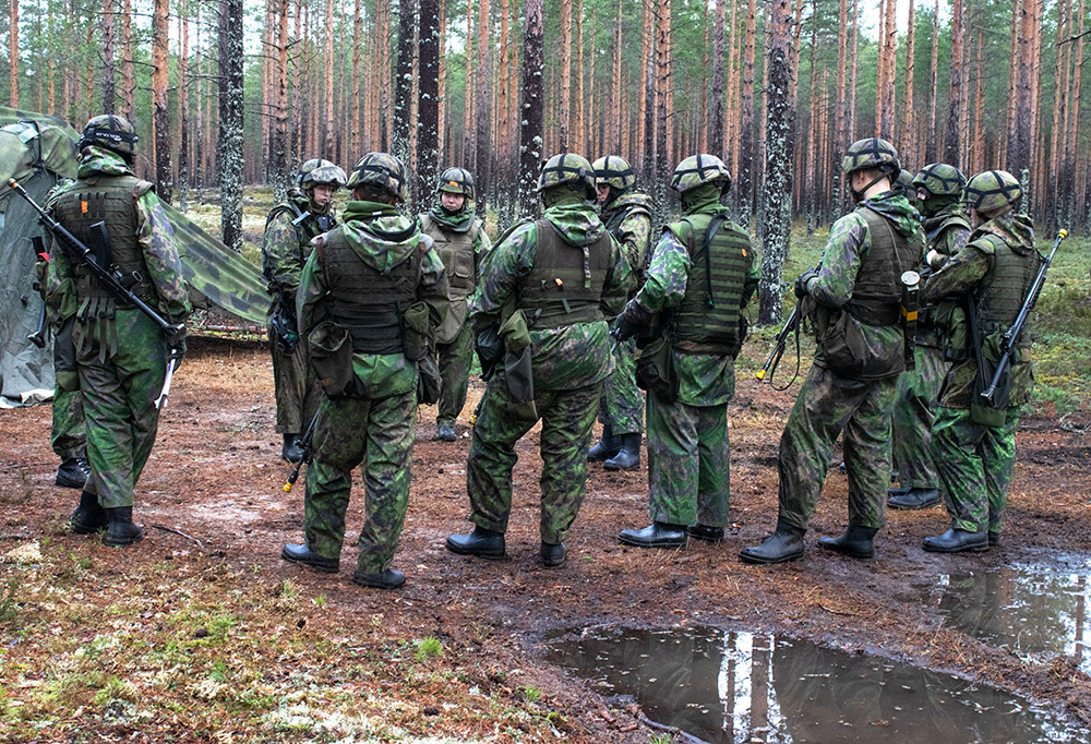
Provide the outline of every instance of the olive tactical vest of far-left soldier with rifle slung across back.
[[[76,181],[53,204],[53,218],[88,248],[93,245],[92,225],[106,223],[111,263],[123,276],[139,278],[129,289],[148,303],[157,295],[136,240],[136,194],[151,185],[135,176],[92,176]],[[112,297],[82,263],[73,261],[72,273],[81,298]],[[131,305],[118,302],[117,307]]]

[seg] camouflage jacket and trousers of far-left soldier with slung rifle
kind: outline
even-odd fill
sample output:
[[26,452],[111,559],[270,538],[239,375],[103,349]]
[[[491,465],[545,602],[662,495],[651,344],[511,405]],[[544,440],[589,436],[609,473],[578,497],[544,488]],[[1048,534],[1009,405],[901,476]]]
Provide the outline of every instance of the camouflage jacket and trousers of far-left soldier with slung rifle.
[[[173,230],[151,191],[152,184],[137,181],[121,156],[104,147],[85,146],[79,180],[53,200],[55,217],[63,225],[84,192],[121,188],[133,200],[131,229],[143,261],[144,281],[133,291],[149,297],[153,308],[158,304],[167,320],[180,323],[191,305]],[[117,225],[116,220],[108,216],[108,227]],[[155,442],[159,421],[155,400],[166,372],[167,343],[141,311],[119,307],[101,292],[85,295],[84,287],[94,289],[97,285],[81,278],[86,269],[73,265],[63,250],[50,251],[50,255],[47,292],[60,317],[74,316],[72,341],[79,386],[91,422],[87,454],[92,475],[85,491],[96,495],[107,509],[132,507],[133,489]]]

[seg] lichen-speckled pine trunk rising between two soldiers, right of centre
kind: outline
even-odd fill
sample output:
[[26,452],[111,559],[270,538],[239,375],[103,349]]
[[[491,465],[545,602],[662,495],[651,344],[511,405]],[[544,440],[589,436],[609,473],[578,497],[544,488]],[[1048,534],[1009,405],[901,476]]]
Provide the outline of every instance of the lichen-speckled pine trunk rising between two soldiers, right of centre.
[[766,219],[762,240],[762,279],[758,284],[758,323],[762,324],[779,322],[782,311],[780,279],[790,245],[792,135],[795,118],[790,100],[792,84],[790,0],[770,0],[768,12],[770,43],[766,56],[766,65],[769,70],[765,137]]

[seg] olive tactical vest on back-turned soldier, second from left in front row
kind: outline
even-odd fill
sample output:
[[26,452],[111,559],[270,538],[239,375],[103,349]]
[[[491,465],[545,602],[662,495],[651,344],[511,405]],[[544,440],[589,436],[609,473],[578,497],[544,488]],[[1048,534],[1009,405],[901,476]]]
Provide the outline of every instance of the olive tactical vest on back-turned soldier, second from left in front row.
[[420,249],[386,274],[365,264],[340,228],[326,233],[319,251],[329,287],[329,319],[348,328],[352,351],[401,352],[401,316],[417,298]]

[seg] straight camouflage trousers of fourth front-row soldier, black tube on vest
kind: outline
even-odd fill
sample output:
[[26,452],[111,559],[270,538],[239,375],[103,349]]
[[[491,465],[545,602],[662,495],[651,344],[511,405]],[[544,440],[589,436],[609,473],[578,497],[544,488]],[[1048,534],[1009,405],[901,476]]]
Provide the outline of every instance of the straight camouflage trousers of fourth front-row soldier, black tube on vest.
[[727,527],[731,483],[728,404],[648,396],[648,492],[654,521]]

